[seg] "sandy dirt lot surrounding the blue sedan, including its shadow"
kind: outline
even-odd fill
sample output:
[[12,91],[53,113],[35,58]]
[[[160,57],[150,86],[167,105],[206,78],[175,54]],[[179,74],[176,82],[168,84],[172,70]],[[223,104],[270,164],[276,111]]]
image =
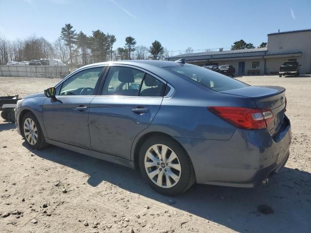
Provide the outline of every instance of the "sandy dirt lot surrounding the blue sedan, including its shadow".
[[[238,79],[287,89],[291,155],[269,186],[195,184],[169,198],[138,171],[54,146],[30,150],[15,125],[0,119],[0,233],[310,233],[311,77]],[[42,92],[58,81],[0,77],[0,96]]]

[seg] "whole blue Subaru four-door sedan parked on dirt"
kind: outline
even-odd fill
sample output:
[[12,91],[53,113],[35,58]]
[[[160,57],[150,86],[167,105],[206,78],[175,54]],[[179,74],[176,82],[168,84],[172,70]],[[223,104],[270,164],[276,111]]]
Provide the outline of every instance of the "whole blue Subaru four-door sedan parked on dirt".
[[289,157],[285,88],[250,86],[183,61],[81,67],[17,102],[17,130],[49,144],[138,168],[157,192],[193,183],[254,187]]

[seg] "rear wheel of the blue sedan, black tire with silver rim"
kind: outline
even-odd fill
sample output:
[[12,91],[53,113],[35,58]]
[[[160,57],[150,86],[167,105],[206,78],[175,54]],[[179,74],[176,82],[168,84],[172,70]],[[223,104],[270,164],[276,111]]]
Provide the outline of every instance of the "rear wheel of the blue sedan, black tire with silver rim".
[[[166,148],[166,155],[161,161],[162,150]],[[174,159],[170,161],[172,158]],[[195,182],[194,168],[187,152],[168,136],[155,136],[144,142],[139,152],[139,168],[147,183],[163,195],[183,193]],[[162,179],[158,179],[159,175]]]

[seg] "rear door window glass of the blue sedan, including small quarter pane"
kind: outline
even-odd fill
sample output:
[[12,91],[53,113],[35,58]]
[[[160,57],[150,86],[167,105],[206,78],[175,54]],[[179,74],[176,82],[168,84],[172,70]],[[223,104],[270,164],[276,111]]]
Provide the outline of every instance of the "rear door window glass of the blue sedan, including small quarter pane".
[[144,71],[131,67],[110,67],[105,78],[104,96],[160,97],[165,84]]

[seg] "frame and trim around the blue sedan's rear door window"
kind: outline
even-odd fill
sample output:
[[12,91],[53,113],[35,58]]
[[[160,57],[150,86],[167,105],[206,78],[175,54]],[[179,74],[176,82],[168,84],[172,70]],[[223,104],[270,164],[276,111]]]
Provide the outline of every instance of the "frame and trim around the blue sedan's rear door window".
[[[174,87],[170,83],[166,82],[165,80],[163,80],[162,78],[158,77],[154,73],[152,73],[152,72],[150,72],[148,70],[145,70],[145,69],[143,69],[141,67],[125,65],[125,64],[109,64],[108,67],[106,68],[105,72],[104,72],[104,76],[103,76],[103,78],[101,80],[101,83],[99,84],[99,88],[97,90],[97,93],[96,93],[95,97],[112,97],[111,95],[101,95],[102,91],[103,91],[103,88],[104,88],[104,83],[106,81],[106,77],[107,77],[107,74],[109,72],[110,67],[129,67],[129,68],[133,68],[133,69],[138,69],[140,71],[143,71],[145,74],[149,74],[152,77],[154,77],[155,79],[157,79],[160,82],[164,83],[165,87],[168,85],[171,88],[171,90],[169,91],[169,93],[166,96],[139,96],[139,92],[138,92],[137,96],[113,96],[114,98],[115,97],[120,97],[120,98],[161,98],[161,99],[163,99],[163,98],[170,98],[170,97],[172,97],[172,95],[173,95],[173,93],[175,91]],[[144,80],[144,78],[146,76],[145,74],[143,76],[142,82],[143,82],[143,80]],[[142,83],[140,84],[139,89],[141,88],[141,85],[142,85]]]

